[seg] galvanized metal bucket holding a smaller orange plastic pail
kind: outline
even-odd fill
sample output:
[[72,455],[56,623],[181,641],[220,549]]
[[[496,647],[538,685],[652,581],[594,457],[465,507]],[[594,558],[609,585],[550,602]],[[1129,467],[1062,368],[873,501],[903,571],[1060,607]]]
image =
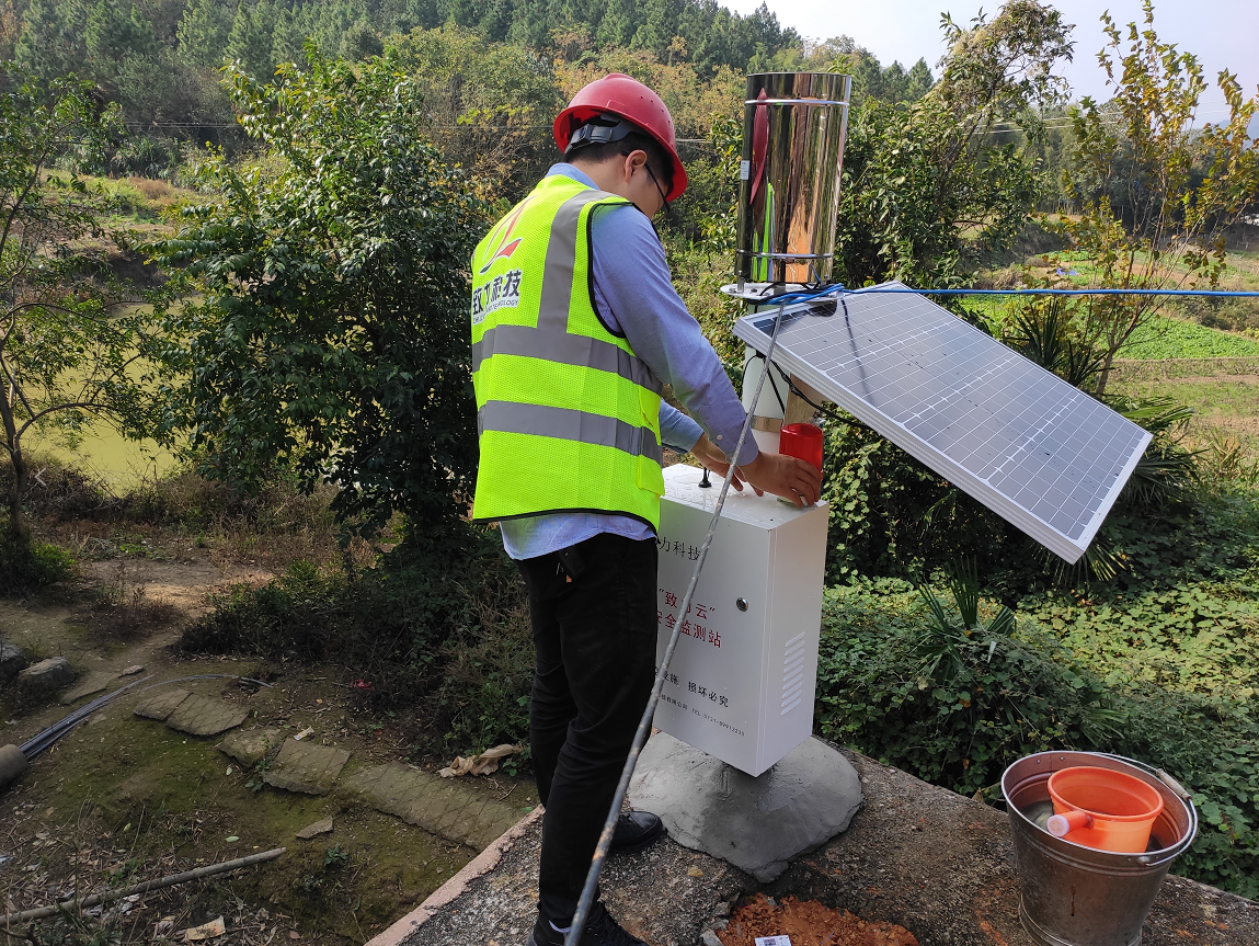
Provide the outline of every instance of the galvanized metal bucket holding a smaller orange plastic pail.
[[[1055,838],[1029,815],[1049,801],[1049,776],[1098,766],[1148,782],[1163,797],[1149,848],[1115,854]],[[1138,946],[1141,926],[1172,862],[1197,835],[1197,811],[1166,772],[1099,752],[1037,752],[1001,777],[1019,863],[1019,918],[1041,946]]]

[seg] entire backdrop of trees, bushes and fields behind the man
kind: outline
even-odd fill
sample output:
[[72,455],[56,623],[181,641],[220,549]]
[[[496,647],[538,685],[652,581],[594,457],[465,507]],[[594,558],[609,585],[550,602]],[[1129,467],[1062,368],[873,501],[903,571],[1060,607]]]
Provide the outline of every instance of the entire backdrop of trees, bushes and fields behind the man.
[[[123,561],[175,539],[263,549],[273,577],[217,593],[185,651],[331,665],[407,752],[526,736],[522,590],[467,520],[466,261],[556,159],[550,122],[590,79],[627,72],[672,110],[691,186],[658,232],[735,383],[738,309],[715,290],[748,71],[855,76],[845,285],[1253,285],[1238,237],[1259,207],[1259,100],[1225,72],[1229,117],[1197,125],[1207,78],[1148,3],[1142,24],[1104,18],[1109,100],[1074,102],[1061,67],[1095,50],[1036,0],[946,18],[946,55],[908,69],[710,0],[6,1],[5,590],[57,587],[102,523]],[[948,305],[1153,440],[1068,566],[828,412],[818,731],[993,802],[1026,752],[1156,761],[1204,818],[1178,869],[1259,894],[1259,453],[1253,423],[1210,414],[1222,392],[1233,421],[1259,416],[1253,380],[1133,368],[1245,360],[1255,307]],[[123,498],[73,472],[49,489],[23,437],[91,423],[180,466]]]

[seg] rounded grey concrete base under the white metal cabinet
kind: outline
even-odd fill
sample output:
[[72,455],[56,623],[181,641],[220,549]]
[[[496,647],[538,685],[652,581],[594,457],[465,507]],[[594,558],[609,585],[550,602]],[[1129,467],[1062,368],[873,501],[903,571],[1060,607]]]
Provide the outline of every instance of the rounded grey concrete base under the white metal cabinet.
[[660,815],[679,844],[769,883],[792,858],[849,826],[861,807],[861,780],[842,755],[815,738],[753,778],[657,733],[638,758],[630,802]]

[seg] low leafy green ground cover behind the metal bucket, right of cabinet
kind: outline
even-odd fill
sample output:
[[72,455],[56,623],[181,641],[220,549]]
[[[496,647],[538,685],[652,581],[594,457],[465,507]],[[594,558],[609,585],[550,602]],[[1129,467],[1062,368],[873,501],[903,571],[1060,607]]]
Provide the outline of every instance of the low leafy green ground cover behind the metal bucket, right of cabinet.
[[[1017,630],[953,617],[906,582],[827,590],[822,736],[964,794],[1056,748],[1158,765],[1194,795],[1199,839],[1177,870],[1259,894],[1253,574],[1089,600],[1025,598]],[[1000,613],[985,608],[986,613]]]

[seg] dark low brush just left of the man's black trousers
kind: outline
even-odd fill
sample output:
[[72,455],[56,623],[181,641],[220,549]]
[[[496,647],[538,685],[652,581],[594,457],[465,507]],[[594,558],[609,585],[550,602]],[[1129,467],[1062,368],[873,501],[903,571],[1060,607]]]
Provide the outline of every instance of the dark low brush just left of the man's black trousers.
[[443,752],[528,736],[528,607],[496,532],[408,535],[353,578],[298,562],[210,603],[184,631],[184,650],[339,664],[361,704],[418,708],[419,742]]

